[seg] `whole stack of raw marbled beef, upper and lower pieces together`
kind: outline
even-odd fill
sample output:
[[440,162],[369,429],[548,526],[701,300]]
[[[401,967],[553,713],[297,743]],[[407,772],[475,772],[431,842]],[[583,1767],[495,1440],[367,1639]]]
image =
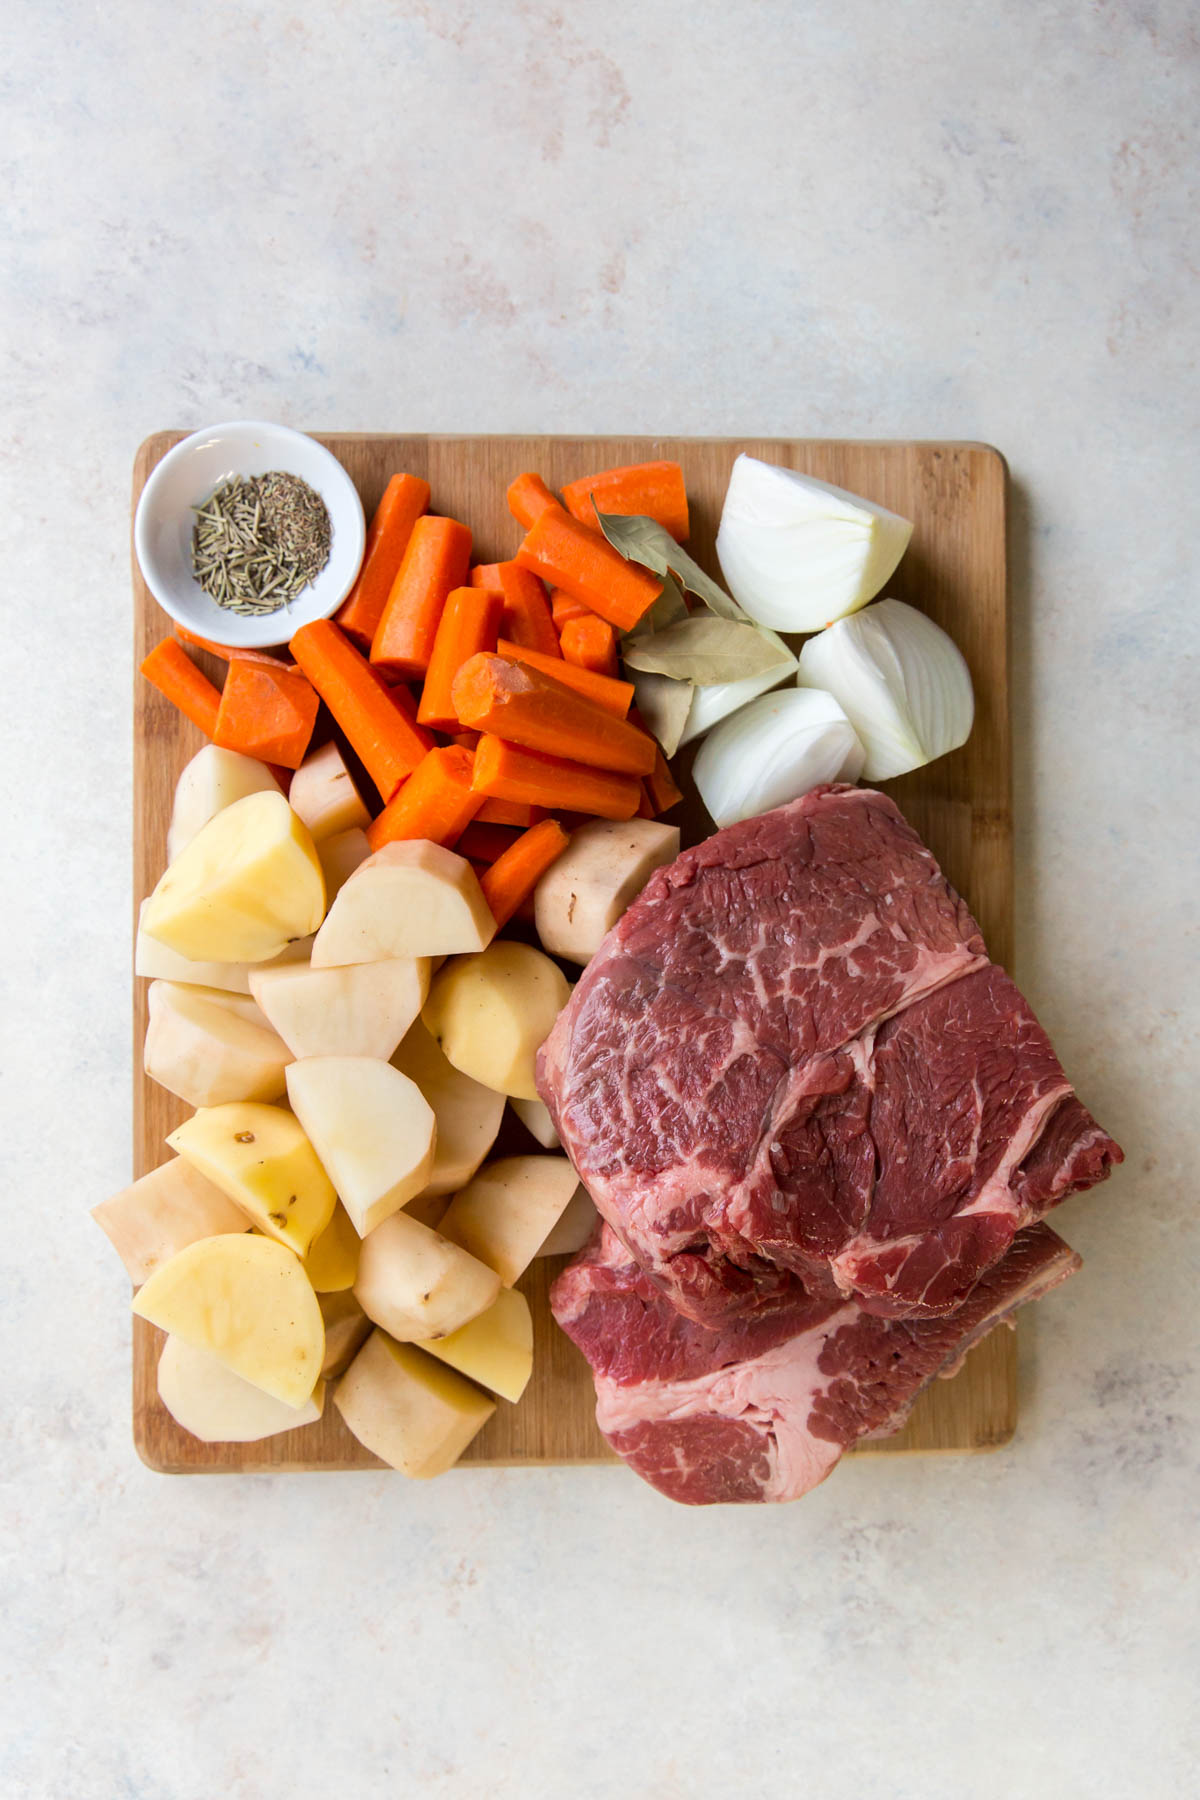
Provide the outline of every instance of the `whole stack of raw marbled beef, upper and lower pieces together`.
[[554,1316],[685,1503],[793,1499],[1078,1258],[1121,1161],[896,806],[826,787],[651,877],[538,1087],[604,1224]]

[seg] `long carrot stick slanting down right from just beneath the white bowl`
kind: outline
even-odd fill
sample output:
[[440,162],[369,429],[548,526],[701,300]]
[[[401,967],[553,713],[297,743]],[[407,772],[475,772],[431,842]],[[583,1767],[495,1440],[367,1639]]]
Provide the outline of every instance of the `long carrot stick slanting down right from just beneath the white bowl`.
[[291,655],[389,801],[434,742],[408,716],[410,695],[389,688],[333,619],[302,625],[291,639]]

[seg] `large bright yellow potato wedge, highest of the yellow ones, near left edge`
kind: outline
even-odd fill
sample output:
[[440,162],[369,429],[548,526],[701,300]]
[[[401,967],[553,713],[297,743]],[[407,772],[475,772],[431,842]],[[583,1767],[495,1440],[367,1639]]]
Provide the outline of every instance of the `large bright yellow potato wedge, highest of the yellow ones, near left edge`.
[[201,826],[146,902],[142,931],[193,961],[264,963],[317,931],[324,911],[313,839],[275,790]]

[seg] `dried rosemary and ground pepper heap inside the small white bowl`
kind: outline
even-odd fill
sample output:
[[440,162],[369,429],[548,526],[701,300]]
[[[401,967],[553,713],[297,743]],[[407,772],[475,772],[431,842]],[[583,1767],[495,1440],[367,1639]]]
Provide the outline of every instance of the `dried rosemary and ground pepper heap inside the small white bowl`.
[[326,502],[284,470],[234,475],[193,511],[193,574],[228,612],[279,612],[329,562]]

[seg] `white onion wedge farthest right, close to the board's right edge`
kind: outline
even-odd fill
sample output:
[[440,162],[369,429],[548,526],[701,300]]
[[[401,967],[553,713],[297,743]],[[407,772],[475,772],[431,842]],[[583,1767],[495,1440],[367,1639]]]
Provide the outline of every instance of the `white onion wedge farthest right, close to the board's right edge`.
[[862,740],[865,781],[887,781],[957,751],[975,718],[963,652],[903,599],[880,599],[810,637],[797,680],[835,697]]

